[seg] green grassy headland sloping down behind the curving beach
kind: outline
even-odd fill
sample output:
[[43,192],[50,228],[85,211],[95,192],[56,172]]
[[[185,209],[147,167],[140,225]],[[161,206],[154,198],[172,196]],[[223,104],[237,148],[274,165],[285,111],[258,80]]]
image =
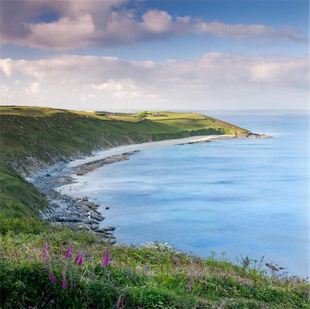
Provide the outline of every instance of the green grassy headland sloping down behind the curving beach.
[[248,133],[197,113],[126,115],[2,106],[0,115],[1,159],[25,174],[45,164],[103,147],[192,135]]

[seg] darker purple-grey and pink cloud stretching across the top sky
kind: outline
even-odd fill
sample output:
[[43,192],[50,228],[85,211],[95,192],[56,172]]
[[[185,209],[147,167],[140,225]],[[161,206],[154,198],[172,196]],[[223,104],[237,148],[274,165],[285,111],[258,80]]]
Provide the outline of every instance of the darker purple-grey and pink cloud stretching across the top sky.
[[[173,17],[166,11],[154,9],[139,13],[126,8],[128,2],[132,1],[3,1],[1,40],[58,51],[93,45],[128,45],[185,34],[211,34],[239,40],[267,37],[272,41],[307,41],[289,27],[277,30],[266,25],[199,21],[195,16]],[[54,14],[56,19],[34,22],[47,13]]]

